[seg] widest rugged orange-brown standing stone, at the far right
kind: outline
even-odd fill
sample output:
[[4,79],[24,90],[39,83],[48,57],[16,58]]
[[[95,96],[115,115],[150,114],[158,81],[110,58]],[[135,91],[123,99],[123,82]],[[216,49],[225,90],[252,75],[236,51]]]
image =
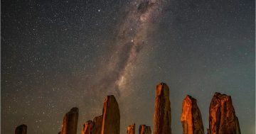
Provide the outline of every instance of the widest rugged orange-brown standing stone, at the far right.
[[240,134],[238,117],[231,96],[215,93],[210,102],[209,129],[211,134]]

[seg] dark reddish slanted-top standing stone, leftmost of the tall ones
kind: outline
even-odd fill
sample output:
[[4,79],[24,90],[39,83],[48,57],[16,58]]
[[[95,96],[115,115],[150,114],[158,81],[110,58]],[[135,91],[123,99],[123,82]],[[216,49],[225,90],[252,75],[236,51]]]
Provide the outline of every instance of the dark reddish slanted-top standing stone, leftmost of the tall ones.
[[71,108],[63,118],[61,134],[76,134],[78,129],[78,108]]

